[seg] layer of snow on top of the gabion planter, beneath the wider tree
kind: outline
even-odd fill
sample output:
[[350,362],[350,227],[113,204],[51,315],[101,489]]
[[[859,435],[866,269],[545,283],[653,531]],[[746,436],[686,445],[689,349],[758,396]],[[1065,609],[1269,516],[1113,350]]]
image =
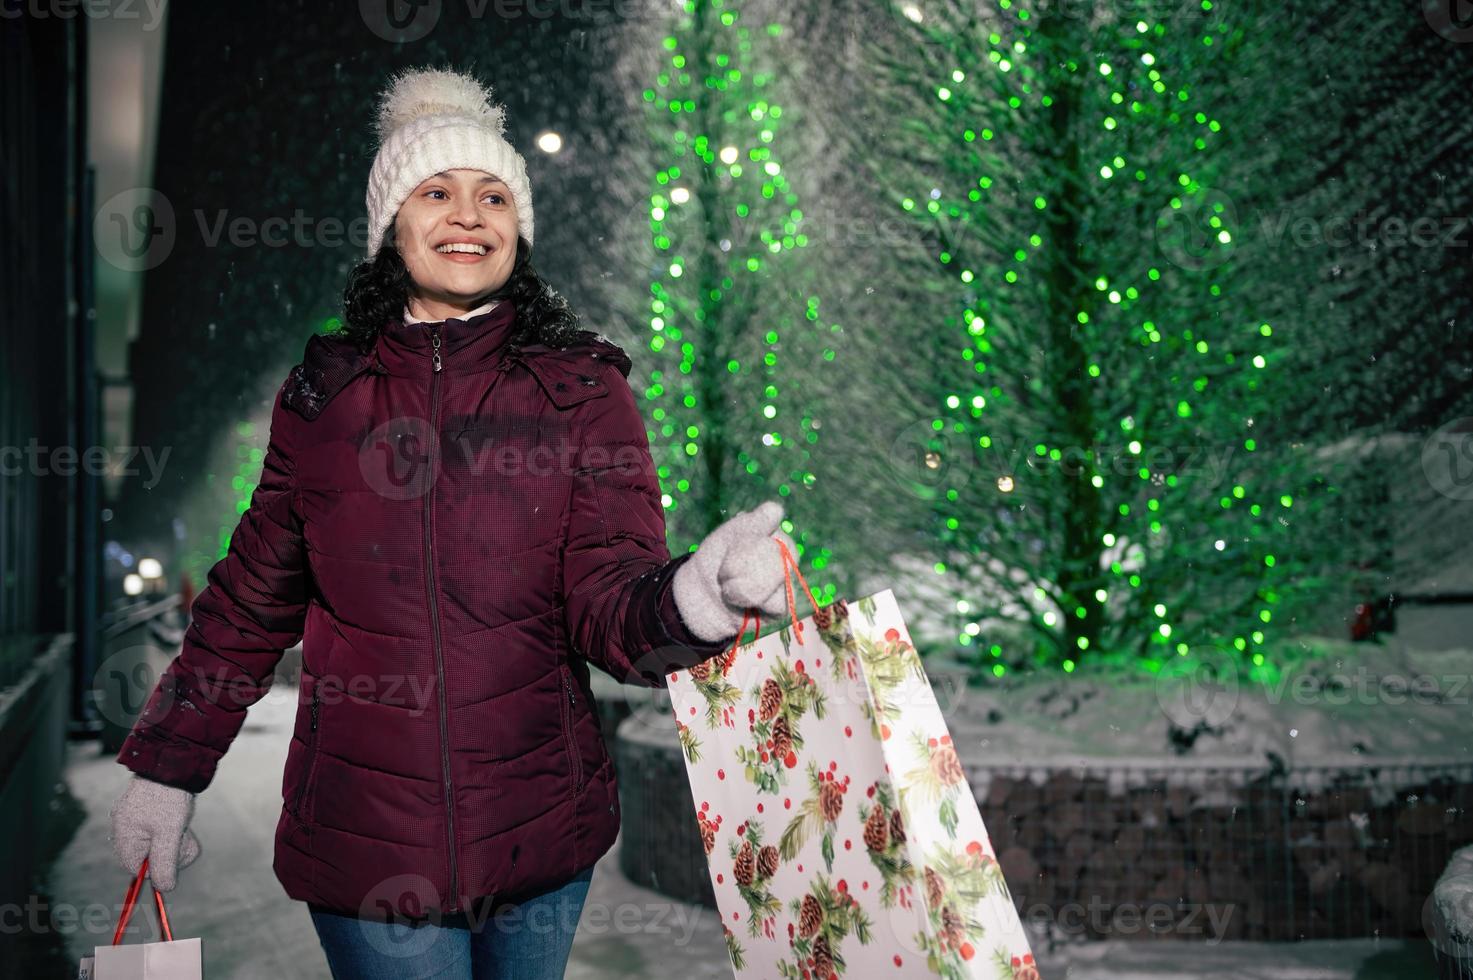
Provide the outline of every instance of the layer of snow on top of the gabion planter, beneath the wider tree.
[[[1473,651],[1315,641],[1254,678],[1228,657],[1156,676],[1094,671],[969,687],[928,662],[937,699],[972,762],[1002,766],[1473,766]],[[1312,787],[1305,787],[1312,788]]]

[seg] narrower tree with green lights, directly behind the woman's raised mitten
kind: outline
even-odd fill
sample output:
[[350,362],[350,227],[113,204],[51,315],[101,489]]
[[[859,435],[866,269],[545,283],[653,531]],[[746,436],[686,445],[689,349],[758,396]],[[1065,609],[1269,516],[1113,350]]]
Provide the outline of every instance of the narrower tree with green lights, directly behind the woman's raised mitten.
[[647,47],[629,44],[622,72],[642,80],[644,125],[642,146],[622,155],[647,167],[629,225],[648,265],[630,289],[611,289],[648,345],[630,383],[651,424],[672,548],[781,497],[784,528],[826,601],[831,551],[813,519],[823,511],[820,405],[835,383],[825,368],[843,327],[822,315],[828,283],[806,255],[791,174],[818,155],[790,103],[779,12],[685,0],[630,27]]

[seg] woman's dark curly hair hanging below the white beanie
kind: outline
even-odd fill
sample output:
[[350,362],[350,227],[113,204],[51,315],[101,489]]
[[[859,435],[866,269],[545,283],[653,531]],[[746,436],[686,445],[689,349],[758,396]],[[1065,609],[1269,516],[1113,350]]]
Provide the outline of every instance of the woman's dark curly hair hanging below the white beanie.
[[[591,335],[582,330],[579,317],[552,286],[532,267],[532,246],[517,236],[517,258],[511,277],[505,284],[488,293],[483,302],[510,299],[517,309],[508,343],[546,343],[563,349]],[[359,262],[348,274],[343,289],[343,326],[330,336],[351,340],[359,351],[368,352],[379,339],[383,324],[398,321],[409,299],[409,270],[399,255],[393,224],[384,233],[379,253]]]

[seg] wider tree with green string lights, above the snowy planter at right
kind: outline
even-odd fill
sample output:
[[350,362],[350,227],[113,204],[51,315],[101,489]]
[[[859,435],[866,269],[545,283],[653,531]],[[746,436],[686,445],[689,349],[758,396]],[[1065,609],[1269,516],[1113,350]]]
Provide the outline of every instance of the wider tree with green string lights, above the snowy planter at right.
[[1276,438],[1302,379],[1237,301],[1264,274],[1234,253],[1256,137],[1214,112],[1234,80],[1271,78],[1267,15],[887,6],[856,153],[931,245],[906,273],[928,283],[916,357],[893,365],[921,505],[894,513],[931,542],[959,641],[999,675],[1262,663],[1287,585],[1333,573],[1299,536],[1324,461]]

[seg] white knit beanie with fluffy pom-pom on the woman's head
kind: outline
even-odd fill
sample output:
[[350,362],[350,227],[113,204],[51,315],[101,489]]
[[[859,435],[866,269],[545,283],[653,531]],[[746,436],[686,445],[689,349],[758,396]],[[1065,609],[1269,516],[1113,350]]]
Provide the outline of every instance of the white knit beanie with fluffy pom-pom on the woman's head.
[[429,177],[483,169],[511,189],[517,233],[532,245],[532,184],[527,162],[502,136],[507,115],[491,88],[470,75],[417,68],[402,72],[379,103],[379,155],[368,172],[368,258],[383,245],[405,199]]

